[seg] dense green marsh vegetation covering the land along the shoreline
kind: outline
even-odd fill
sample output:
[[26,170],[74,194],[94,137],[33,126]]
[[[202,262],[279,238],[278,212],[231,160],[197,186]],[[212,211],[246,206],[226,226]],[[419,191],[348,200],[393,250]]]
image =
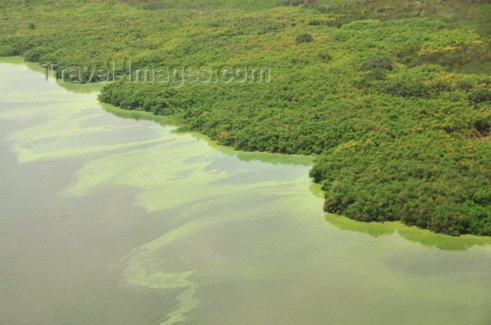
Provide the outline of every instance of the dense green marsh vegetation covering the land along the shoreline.
[[[199,82],[184,71],[121,78],[99,98],[240,150],[316,155],[325,211],[491,235],[490,1],[7,0],[0,10],[3,56],[110,61],[120,74],[128,62],[201,67]],[[214,82],[223,66],[268,67],[269,80]]]

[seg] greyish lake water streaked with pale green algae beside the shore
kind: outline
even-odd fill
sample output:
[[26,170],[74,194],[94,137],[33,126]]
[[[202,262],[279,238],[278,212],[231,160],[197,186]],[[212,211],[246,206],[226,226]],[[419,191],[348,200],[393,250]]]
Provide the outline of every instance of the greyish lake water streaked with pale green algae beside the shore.
[[324,214],[311,158],[36,69],[0,61],[0,324],[491,324],[490,239]]

